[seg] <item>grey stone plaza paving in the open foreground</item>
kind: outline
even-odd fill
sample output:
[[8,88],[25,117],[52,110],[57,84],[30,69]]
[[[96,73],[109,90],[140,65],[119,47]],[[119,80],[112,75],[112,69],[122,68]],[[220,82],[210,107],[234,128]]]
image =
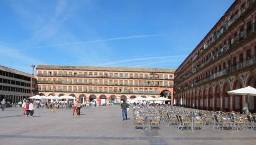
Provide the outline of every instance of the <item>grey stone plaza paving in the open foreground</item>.
[[[189,109],[191,110],[191,109]],[[22,115],[22,108],[0,111],[0,145],[255,145],[256,131],[213,130],[177,131],[162,122],[162,130],[135,129],[130,120],[122,121],[119,106],[81,109],[36,109],[33,118]]]

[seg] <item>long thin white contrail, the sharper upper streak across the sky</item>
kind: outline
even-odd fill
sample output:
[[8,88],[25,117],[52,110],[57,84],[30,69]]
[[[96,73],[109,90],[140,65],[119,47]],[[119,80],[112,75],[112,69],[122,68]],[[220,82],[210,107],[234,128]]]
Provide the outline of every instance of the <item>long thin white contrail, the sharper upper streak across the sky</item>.
[[71,44],[86,44],[86,43],[113,41],[113,40],[121,40],[121,39],[133,39],[133,38],[140,38],[140,37],[154,37],[154,36],[164,36],[164,34],[161,34],[161,35],[138,35],[138,36],[118,37],[118,38],[110,38],[110,39],[102,39],[102,40],[72,42],[72,43],[63,43],[63,44],[55,44],[55,45],[47,45],[47,46],[37,46],[37,47],[33,47],[33,48],[46,48],[46,47],[63,46],[63,45],[71,45]]

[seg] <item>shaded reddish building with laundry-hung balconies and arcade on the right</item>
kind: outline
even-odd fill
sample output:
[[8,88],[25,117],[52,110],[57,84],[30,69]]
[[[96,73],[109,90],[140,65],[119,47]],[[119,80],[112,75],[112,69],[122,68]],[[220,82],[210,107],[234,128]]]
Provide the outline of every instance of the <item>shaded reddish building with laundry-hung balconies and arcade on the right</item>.
[[236,0],[175,71],[176,103],[203,110],[256,112],[256,97],[227,91],[256,87],[256,0]]

